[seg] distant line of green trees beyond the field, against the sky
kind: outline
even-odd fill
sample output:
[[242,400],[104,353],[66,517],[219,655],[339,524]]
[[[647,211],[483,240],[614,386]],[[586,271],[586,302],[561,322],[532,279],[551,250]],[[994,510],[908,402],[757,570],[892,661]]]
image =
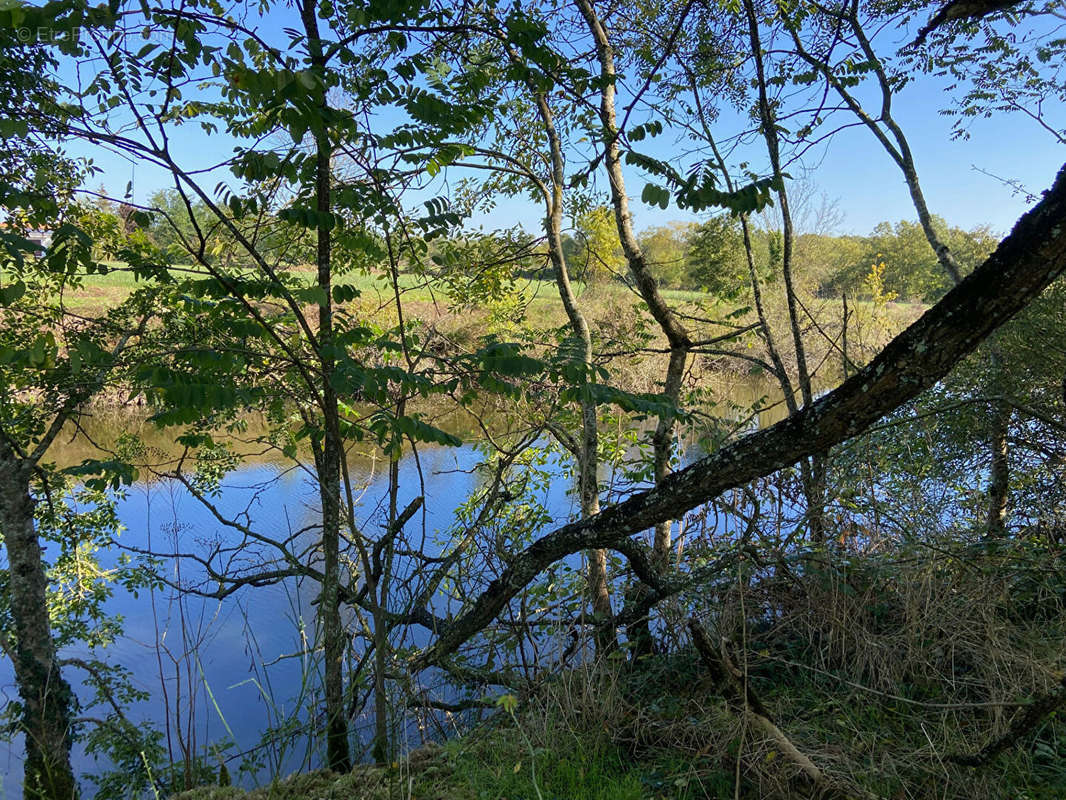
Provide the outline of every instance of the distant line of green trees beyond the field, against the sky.
[[[132,208],[113,204],[101,204],[100,210],[127,228],[142,227],[163,252],[177,256],[187,252],[181,224],[172,225],[168,219],[183,220],[182,224],[190,228],[185,231],[189,239],[197,238],[188,215],[176,207],[178,203],[173,192],[159,192],[149,201],[154,212],[147,217],[131,214]],[[206,207],[200,211],[196,217],[204,219],[204,230],[211,242],[209,253],[220,262],[236,258],[233,254],[240,249],[228,241],[232,234],[220,227],[216,219],[212,226]],[[625,275],[625,258],[617,238],[611,236],[613,225],[604,207],[593,208],[574,221],[564,236],[564,252],[576,277],[597,283]],[[998,241],[988,226],[964,230],[939,218],[935,218],[935,226],[966,271],[981,263]],[[298,267],[313,260],[312,237],[294,236],[298,228],[282,223],[275,213],[263,211],[251,221],[245,215],[241,227],[260,246],[275,251],[282,262]],[[372,235],[353,233],[371,243]],[[706,291],[725,300],[740,299],[749,290],[749,265],[762,281],[772,283],[780,274],[784,258],[780,235],[774,226],[752,226],[745,244],[739,220],[728,214],[701,223],[675,222],[647,228],[641,235],[641,245],[661,286]],[[368,247],[367,259],[351,266],[384,267],[378,262],[382,255],[383,251]],[[877,295],[889,301],[927,303],[950,288],[921,227],[906,220],[882,222],[868,236],[802,233],[795,237],[792,259],[796,278],[822,297],[846,293],[856,299]],[[242,265],[235,261],[233,266]],[[474,283],[484,281],[489,273],[496,281],[551,279],[553,274],[542,239],[518,227],[491,233],[457,230],[453,236],[434,239],[426,243],[425,262],[406,263],[405,269],[438,270],[452,279],[477,276]]]

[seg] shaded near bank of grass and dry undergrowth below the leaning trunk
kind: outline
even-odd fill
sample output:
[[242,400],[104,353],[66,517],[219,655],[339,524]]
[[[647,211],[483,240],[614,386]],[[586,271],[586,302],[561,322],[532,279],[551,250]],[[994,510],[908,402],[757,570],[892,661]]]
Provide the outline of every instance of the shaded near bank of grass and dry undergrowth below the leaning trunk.
[[[389,768],[176,797],[1066,797],[1063,545],[988,551],[941,540],[812,553],[788,575],[753,578],[744,595],[741,604],[736,589],[701,591],[696,605],[722,653],[731,650],[755,710],[730,694],[713,656],[682,644],[635,663],[549,670],[513,715],[496,711]],[[728,665],[721,658],[718,668]]]

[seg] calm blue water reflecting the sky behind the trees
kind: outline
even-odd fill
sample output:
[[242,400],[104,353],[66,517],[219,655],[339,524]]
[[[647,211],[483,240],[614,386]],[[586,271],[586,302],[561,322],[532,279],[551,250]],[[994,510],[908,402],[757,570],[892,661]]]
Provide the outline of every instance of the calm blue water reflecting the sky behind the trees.
[[[744,387],[744,396],[754,401],[762,390]],[[763,414],[759,422],[774,421],[779,413]],[[113,441],[120,431],[140,431],[157,451],[173,450],[173,433],[160,432],[143,423],[136,415],[104,415],[90,427],[92,438]],[[64,441],[54,453],[61,464],[79,463],[95,455],[85,438]],[[432,542],[456,524],[456,509],[477,490],[481,478],[473,467],[483,453],[472,444],[461,447],[421,447],[417,458],[402,459],[399,508],[424,494],[425,502],[408,530]],[[352,481],[361,494],[360,518],[367,529],[379,526],[387,503],[387,462],[381,458],[356,459]],[[547,465],[552,476],[543,489],[540,502],[553,524],[574,518],[576,500],[570,492],[568,468],[559,463]],[[293,531],[312,525],[318,514],[318,491],[310,475],[291,463],[249,460],[228,475],[215,499],[216,511],[225,517],[240,518],[264,535],[284,539]],[[222,525],[210,509],[173,480],[142,480],[125,492],[117,502],[124,531],[118,546],[98,554],[104,567],[112,567],[124,553],[206,553],[212,543],[233,541],[233,531]],[[544,528],[548,530],[546,526]],[[164,570],[176,581],[199,582],[203,570],[188,559],[165,559]],[[574,567],[580,565],[575,558]],[[108,661],[128,669],[133,684],[147,699],[133,703],[129,718],[167,730],[173,757],[181,757],[182,745],[194,751],[212,742],[231,740],[236,747],[228,755],[260,743],[263,731],[294,715],[306,722],[306,709],[318,705],[319,677],[308,674],[313,659],[312,636],[318,588],[311,581],[286,579],[272,586],[247,588],[217,601],[184,597],[179,601],[167,588],[138,596],[116,587],[107,601],[109,614],[122,615],[125,635],[107,649]],[[447,608],[435,609],[438,613]],[[84,657],[84,650],[74,649],[62,655]],[[99,655],[99,654],[98,654]],[[87,699],[87,689],[79,684],[77,670],[67,670],[67,678],[79,697]],[[0,660],[0,699],[17,699],[9,661]],[[166,725],[169,720],[169,725]],[[366,731],[371,720],[356,721],[356,733],[369,739]],[[306,737],[304,737],[306,742]],[[417,743],[417,742],[416,742]],[[252,785],[269,780],[274,773],[287,773],[318,763],[318,751],[301,748],[280,750],[266,747],[257,774],[244,775],[241,783]],[[0,743],[0,798],[20,795],[22,742]],[[239,758],[229,762],[236,771]],[[109,767],[79,746],[74,753],[79,774],[96,773]],[[236,775],[235,775],[236,778]],[[87,796],[91,784],[85,784]]]

